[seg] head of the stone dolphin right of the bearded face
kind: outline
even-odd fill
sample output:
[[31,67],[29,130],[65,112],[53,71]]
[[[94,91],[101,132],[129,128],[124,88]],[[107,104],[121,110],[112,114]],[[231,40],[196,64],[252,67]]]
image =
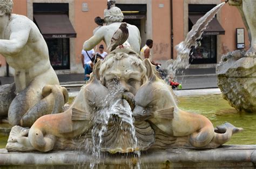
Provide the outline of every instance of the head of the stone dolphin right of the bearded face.
[[153,118],[159,111],[169,109],[175,105],[170,87],[154,75],[149,60],[145,60],[144,63],[147,67],[149,80],[140,86],[134,98],[133,116],[137,120]]

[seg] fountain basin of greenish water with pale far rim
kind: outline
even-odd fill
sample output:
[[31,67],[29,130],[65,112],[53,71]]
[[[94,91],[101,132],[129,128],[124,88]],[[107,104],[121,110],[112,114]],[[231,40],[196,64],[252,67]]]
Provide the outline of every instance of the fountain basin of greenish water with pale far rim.
[[[224,124],[230,121],[235,126],[244,128],[244,131],[234,134],[233,138],[226,144],[255,144],[256,131],[254,122],[256,114],[237,113],[237,111],[228,105],[228,102],[221,96],[219,89],[200,89],[200,90],[174,90],[179,100],[181,109],[188,112],[198,112],[210,119],[214,126]],[[76,97],[77,92],[70,93],[71,97]],[[69,100],[71,104],[72,99]],[[0,125],[1,126],[1,125]],[[3,126],[3,128],[10,128]],[[5,148],[9,134],[0,132],[0,148]]]

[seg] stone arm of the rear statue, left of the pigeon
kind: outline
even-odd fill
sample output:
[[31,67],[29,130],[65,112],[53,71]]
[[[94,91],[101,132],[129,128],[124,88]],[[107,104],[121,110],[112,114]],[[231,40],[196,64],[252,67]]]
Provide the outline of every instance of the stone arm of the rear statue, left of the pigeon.
[[90,39],[88,39],[88,40],[86,40],[84,42],[84,45],[83,45],[83,49],[84,50],[89,51],[89,50],[93,49],[102,40],[104,40],[104,42],[105,42],[105,39],[104,39],[104,29],[102,29],[102,28],[97,30],[95,32],[95,35],[93,35]]

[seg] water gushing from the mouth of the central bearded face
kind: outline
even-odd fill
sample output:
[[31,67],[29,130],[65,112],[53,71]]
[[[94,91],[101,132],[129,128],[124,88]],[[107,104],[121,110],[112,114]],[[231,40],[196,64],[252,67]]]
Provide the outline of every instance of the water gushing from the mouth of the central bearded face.
[[[91,161],[90,168],[98,168],[100,160],[104,158],[105,153],[103,153],[103,151],[105,151],[104,148],[108,146],[105,141],[109,141],[108,139],[106,139],[107,137],[109,137],[109,134],[107,132],[108,130],[110,130],[111,127],[118,128],[121,131],[127,132],[127,135],[131,136],[130,138],[128,138],[127,142],[129,143],[129,147],[127,148],[131,152],[134,152],[137,158],[140,157],[140,151],[137,151],[138,141],[136,137],[136,129],[133,125],[134,121],[132,117],[132,110],[129,103],[125,99],[122,99],[123,93],[124,92],[122,87],[118,85],[111,87],[109,96],[107,96],[106,100],[104,100],[103,102],[106,105],[105,109],[97,112],[97,115],[93,119],[93,121],[95,121],[95,125],[93,125],[93,129],[91,131],[93,159]],[[118,126],[111,126],[113,124]],[[127,139],[125,138],[127,136],[123,136],[122,134],[120,134],[119,136],[111,136],[111,139],[113,137],[116,137],[119,141]],[[127,164],[129,164],[130,166],[134,165],[130,160],[127,160]],[[140,163],[137,163],[136,165],[137,168],[140,168]]]

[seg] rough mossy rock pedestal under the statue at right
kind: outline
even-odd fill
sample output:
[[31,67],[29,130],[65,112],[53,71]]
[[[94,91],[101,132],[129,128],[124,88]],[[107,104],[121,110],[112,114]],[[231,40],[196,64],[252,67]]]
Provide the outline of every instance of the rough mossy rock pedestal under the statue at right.
[[256,57],[230,52],[222,57],[216,72],[224,99],[240,112],[256,112]]

